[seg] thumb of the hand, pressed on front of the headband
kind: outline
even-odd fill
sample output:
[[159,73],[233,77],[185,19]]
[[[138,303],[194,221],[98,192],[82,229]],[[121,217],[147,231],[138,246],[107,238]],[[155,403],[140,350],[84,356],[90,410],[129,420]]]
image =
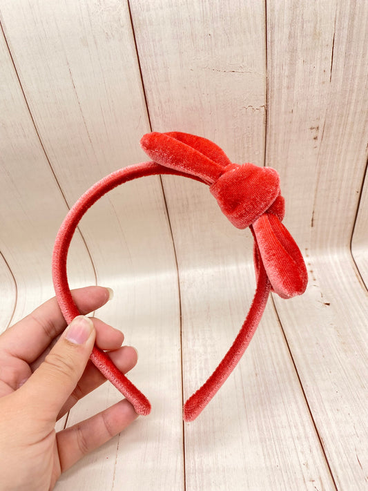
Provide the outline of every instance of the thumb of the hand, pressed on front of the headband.
[[37,412],[46,411],[50,417],[57,417],[86,368],[95,338],[90,318],[77,316],[70,322],[43,363],[21,387],[28,391],[27,401],[35,403]]

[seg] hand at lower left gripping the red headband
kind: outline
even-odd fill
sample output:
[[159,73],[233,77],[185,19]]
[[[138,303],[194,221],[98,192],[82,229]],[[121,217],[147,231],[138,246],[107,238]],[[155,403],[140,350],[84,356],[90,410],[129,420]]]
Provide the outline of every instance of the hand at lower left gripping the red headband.
[[[83,314],[109,299],[103,287],[72,295]],[[1,491],[52,490],[61,472],[137,418],[124,399],[55,432],[56,421],[106,380],[88,360],[95,342],[122,372],[137,363],[135,349],[121,346],[122,332],[101,320],[79,316],[65,327],[52,298],[0,336]]]

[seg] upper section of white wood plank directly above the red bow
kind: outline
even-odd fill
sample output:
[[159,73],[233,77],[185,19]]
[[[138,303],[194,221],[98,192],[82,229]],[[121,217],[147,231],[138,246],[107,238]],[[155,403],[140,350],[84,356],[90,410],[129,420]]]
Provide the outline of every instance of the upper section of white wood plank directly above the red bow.
[[132,0],[130,8],[153,129],[201,134],[234,162],[262,165],[264,3]]

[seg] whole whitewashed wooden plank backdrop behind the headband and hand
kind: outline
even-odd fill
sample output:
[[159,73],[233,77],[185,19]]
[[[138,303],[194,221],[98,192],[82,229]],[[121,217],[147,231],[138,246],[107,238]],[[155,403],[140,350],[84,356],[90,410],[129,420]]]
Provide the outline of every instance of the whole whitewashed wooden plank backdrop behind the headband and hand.
[[[220,393],[193,423],[255,287],[252,240],[208,190],[149,177],[81,222],[71,285],[113,287],[96,315],[139,350],[153,412],[57,490],[368,489],[368,4],[354,0],[2,0],[0,329],[52,296],[68,207],[139,139],[186,131],[233,162],[275,167],[309,269],[269,301]],[[110,385],[62,425],[119,400]]]

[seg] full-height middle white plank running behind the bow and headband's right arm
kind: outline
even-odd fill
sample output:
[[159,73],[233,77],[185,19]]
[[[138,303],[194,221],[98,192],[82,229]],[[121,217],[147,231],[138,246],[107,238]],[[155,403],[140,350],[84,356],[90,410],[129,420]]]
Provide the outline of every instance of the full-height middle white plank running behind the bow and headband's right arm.
[[[131,7],[153,129],[199,133],[235,162],[262,164],[264,5],[231,3],[236,15],[217,1]],[[187,398],[244,321],[255,288],[251,241],[204,185],[164,177],[164,189],[180,270]],[[272,305],[260,329],[220,393],[185,425],[187,490],[333,489]]]

